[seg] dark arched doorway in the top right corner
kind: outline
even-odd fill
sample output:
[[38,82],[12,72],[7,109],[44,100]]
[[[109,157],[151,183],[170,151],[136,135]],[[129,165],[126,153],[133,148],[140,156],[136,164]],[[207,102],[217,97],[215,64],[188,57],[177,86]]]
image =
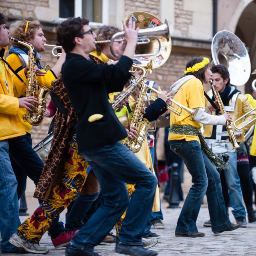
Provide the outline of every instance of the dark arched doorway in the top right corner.
[[[256,68],[256,0],[250,2],[242,12],[235,30],[235,34],[248,48],[252,71]],[[250,93],[252,80],[256,75],[251,75],[246,83],[245,92]]]

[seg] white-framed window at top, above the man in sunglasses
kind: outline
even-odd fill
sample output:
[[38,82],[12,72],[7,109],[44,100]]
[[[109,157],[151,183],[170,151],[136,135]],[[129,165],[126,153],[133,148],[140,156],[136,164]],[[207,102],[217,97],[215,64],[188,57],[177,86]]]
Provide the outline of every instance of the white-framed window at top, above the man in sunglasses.
[[108,24],[108,0],[60,0],[60,18],[79,16]]

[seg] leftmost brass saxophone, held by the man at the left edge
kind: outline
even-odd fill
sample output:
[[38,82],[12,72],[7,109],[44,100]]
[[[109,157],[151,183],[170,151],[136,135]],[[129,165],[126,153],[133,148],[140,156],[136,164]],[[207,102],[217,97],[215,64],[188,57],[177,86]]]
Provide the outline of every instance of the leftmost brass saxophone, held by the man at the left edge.
[[[32,103],[36,108],[30,112],[26,110],[26,114],[23,116],[24,122],[29,122],[33,126],[38,126],[44,119],[44,112],[46,109],[46,96],[49,93],[49,89],[43,85],[37,85],[36,73],[34,72],[34,47],[27,42],[19,41],[16,38],[10,38],[11,42],[16,42],[26,46],[28,50],[28,83],[26,84],[26,97],[34,97],[38,100],[38,105]],[[38,89],[39,88],[39,89]]]

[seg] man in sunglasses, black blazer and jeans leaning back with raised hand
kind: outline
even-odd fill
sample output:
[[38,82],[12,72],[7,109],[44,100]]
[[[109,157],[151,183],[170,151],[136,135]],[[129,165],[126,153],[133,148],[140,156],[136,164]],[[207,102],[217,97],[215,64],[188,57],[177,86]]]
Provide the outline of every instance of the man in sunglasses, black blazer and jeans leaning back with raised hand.
[[[74,23],[82,25],[78,34],[71,30]],[[70,18],[57,30],[58,41],[68,52],[62,74],[79,118],[76,125],[79,151],[92,166],[104,198],[103,204],[71,240],[66,248],[67,256],[98,255],[93,252],[94,245],[104,239],[128,204],[116,252],[157,255],[157,252],[141,246],[153,204],[156,178],[126,146],[118,142],[127,136],[127,132],[108,102],[108,93],[122,90],[130,76],[128,71],[136,47],[137,30],[131,19],[124,28],[123,56],[115,65],[97,65],[88,61],[90,52],[95,49],[96,35],[87,20]],[[130,203],[125,182],[138,186]]]

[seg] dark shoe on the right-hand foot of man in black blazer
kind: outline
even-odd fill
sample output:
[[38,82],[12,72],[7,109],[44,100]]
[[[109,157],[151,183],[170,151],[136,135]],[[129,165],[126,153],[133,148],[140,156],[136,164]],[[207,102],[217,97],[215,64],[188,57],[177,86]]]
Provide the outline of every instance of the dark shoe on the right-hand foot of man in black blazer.
[[155,256],[158,254],[156,251],[144,249],[140,245],[131,246],[127,244],[116,244],[116,252],[120,254],[131,255],[131,256]]

